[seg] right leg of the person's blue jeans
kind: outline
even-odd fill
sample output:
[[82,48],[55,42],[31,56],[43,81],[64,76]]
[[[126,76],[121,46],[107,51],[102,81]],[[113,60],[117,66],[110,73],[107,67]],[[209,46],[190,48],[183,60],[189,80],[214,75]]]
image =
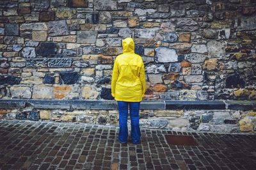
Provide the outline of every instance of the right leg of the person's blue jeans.
[[132,143],[140,143],[140,102],[130,102]]

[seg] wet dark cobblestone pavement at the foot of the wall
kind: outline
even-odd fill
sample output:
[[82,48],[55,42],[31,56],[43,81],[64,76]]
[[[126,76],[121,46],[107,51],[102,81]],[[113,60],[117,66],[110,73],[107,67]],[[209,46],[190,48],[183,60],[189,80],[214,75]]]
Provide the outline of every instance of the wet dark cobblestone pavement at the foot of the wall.
[[[141,129],[119,144],[117,127],[0,120],[0,169],[255,169],[256,135]],[[198,146],[169,146],[164,135],[192,135]]]

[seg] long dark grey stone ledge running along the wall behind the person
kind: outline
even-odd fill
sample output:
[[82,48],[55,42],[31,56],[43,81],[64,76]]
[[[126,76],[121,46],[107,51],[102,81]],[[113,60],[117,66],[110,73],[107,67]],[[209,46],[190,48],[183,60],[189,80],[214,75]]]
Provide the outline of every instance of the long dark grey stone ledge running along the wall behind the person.
[[[0,109],[19,109],[32,106],[35,109],[118,109],[115,100],[0,100]],[[141,110],[175,110],[175,109],[204,109],[204,110],[252,110],[256,109],[256,101],[171,101],[151,100],[142,101]]]

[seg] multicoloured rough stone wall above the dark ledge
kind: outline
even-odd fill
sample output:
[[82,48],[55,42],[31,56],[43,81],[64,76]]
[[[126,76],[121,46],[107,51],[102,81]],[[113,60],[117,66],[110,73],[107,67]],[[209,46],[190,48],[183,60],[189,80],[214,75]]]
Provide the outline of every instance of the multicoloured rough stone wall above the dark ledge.
[[253,0],[0,1],[0,98],[109,100],[134,38],[145,99],[255,100]]

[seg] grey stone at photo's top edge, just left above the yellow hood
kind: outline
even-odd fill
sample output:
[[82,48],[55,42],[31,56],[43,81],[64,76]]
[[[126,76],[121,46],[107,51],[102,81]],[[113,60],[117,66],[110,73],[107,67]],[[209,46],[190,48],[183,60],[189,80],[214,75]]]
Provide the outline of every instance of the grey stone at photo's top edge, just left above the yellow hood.
[[116,1],[113,0],[95,0],[94,9],[103,11],[103,10],[116,10]]

